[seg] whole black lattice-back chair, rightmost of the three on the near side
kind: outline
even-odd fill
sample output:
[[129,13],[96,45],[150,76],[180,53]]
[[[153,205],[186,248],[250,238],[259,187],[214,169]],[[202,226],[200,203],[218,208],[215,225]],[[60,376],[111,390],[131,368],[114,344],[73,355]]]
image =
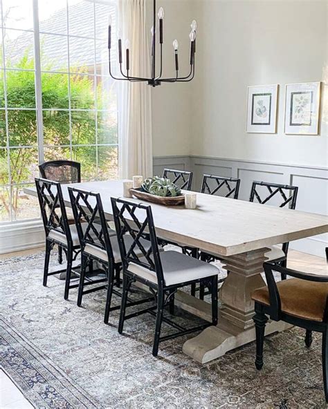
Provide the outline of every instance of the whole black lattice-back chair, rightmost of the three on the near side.
[[[122,334],[124,321],[149,312],[156,315],[156,329],[152,354],[157,356],[158,345],[161,341],[176,338],[195,331],[203,330],[209,325],[217,325],[217,274],[218,269],[208,263],[203,263],[197,258],[192,258],[177,251],[158,250],[158,241],[152,216],[152,207],[142,203],[130,202],[128,200],[111,198],[113,216],[120,244],[120,254],[123,262],[123,290],[122,306],[120,309],[120,323],[118,332]],[[145,248],[142,238],[143,234],[149,234],[151,245]],[[128,236],[129,235],[129,236]],[[127,240],[128,237],[132,241]],[[140,251],[143,257],[138,257],[136,252]],[[170,312],[174,312],[172,296],[181,287],[198,283],[201,278],[208,279],[208,285],[212,294],[212,323],[206,323],[185,329],[163,317],[166,305]],[[156,305],[144,310],[138,310],[126,314],[127,294],[131,283],[138,281],[156,292]],[[156,310],[156,314],[154,312]],[[173,334],[161,336],[161,325],[165,322],[178,331]]]

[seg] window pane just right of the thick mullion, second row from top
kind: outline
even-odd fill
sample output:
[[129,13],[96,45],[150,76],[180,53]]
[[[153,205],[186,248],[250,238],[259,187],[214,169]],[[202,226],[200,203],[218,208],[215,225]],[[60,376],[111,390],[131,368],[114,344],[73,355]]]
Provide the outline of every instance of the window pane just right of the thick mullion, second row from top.
[[68,53],[67,37],[53,34],[40,35],[41,69],[43,71],[68,72]]

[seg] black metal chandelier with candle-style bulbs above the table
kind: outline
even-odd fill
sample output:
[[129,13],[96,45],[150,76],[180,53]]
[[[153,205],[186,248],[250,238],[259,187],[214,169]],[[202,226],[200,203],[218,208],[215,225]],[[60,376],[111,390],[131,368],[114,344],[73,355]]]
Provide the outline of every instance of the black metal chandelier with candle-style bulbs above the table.
[[130,82],[147,82],[151,86],[161,85],[162,82],[189,82],[194,78],[194,54],[196,53],[196,29],[197,23],[195,20],[191,23],[191,32],[190,32],[190,73],[186,77],[179,77],[179,58],[178,58],[178,40],[173,41],[174,48],[174,60],[175,60],[175,70],[176,76],[172,78],[162,78],[162,60],[163,60],[163,18],[164,18],[164,9],[161,7],[158,10],[158,28],[159,28],[159,45],[160,45],[160,61],[161,66],[159,68],[159,73],[156,75],[156,0],[154,0],[154,26],[152,27],[152,64],[151,71],[152,76],[149,78],[143,77],[133,77],[130,75],[130,44],[129,40],[125,41],[125,64],[126,64],[126,74],[122,70],[122,39],[118,39],[118,64],[120,65],[120,73],[122,77],[117,78],[111,73],[111,19],[109,21],[108,27],[108,52],[109,52],[109,74],[113,79],[118,79],[122,81]]

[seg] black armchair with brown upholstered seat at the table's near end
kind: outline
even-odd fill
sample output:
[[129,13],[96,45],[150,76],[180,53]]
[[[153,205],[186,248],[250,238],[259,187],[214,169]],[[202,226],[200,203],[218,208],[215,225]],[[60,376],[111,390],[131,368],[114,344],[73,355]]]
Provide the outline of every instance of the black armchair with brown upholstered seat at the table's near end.
[[[256,289],[253,317],[256,332],[257,370],[263,367],[263,345],[268,317],[306,330],[305,345],[310,348],[312,331],[322,333],[322,373],[328,403],[328,276],[307,274],[275,263],[264,263],[267,287]],[[275,283],[273,272],[291,276]]]

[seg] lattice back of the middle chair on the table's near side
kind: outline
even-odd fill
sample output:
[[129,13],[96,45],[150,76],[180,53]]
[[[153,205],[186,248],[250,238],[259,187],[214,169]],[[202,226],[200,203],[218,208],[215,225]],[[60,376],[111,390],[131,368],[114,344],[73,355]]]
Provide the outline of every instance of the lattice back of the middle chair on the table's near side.
[[[100,193],[73,187],[68,189],[82,251],[89,244],[106,251],[108,259],[113,260],[113,249]],[[82,229],[82,222],[84,229]]]

